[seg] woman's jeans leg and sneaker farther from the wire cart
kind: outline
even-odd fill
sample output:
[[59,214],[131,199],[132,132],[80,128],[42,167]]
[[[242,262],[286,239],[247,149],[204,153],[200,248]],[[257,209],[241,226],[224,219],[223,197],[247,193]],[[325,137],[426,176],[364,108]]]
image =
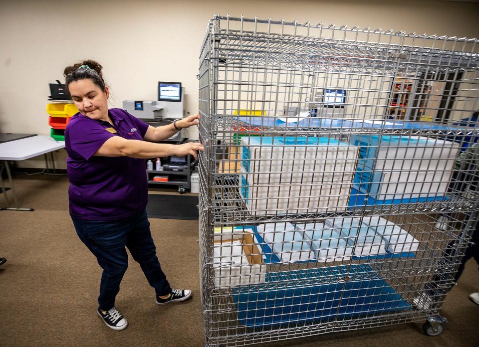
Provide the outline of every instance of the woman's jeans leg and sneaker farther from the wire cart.
[[103,269],[97,313],[110,328],[125,329],[128,322],[115,308],[115,298],[128,268],[125,246],[130,223],[128,220],[89,221],[74,217],[72,220],[78,237]]

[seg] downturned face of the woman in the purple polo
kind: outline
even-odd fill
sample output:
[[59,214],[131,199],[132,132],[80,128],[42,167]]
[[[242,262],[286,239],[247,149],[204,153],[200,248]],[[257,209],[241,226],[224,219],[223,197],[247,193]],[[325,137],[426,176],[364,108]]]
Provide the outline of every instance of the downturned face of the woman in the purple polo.
[[71,82],[68,90],[82,115],[108,122],[108,87],[103,92],[91,79],[85,78]]

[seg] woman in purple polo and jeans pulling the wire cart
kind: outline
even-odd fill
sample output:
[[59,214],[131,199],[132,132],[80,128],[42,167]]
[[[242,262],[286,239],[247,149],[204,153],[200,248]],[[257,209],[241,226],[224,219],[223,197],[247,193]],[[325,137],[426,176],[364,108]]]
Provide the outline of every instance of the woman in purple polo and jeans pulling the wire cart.
[[[156,144],[199,115],[154,128],[122,109],[108,109],[109,90],[102,66],[86,60],[64,70],[66,85],[80,111],[65,130],[70,215],[76,232],[103,269],[98,315],[114,330],[128,322],[115,308],[115,296],[128,267],[126,248],[155,288],[156,303],[185,301],[191,291],[172,289],[161,270],[146,214],[145,159],[171,155],[197,158],[198,143]],[[143,141],[146,140],[146,141]]]

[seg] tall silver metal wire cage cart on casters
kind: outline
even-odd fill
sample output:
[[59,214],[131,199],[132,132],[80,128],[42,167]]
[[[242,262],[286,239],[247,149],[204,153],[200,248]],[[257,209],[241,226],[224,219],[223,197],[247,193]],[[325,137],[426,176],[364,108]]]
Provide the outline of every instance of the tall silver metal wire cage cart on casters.
[[207,346],[439,315],[476,227],[478,40],[215,16],[200,54]]

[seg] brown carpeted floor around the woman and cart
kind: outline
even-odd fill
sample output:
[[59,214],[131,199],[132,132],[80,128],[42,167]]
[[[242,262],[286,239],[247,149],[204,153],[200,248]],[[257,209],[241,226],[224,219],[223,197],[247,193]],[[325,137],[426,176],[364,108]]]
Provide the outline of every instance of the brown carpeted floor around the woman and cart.
[[[107,328],[97,316],[101,270],[75,234],[68,215],[64,176],[16,175],[22,207],[33,212],[0,211],[0,346],[155,346],[203,347],[198,264],[198,221],[151,219],[162,267],[177,288],[194,298],[159,307],[133,260],[117,307],[127,317],[124,331]],[[0,200],[2,203],[2,200]],[[422,323],[296,339],[269,347],[479,346],[479,306],[468,295],[479,290],[473,261],[444,305],[450,320],[438,337],[422,334]]]

